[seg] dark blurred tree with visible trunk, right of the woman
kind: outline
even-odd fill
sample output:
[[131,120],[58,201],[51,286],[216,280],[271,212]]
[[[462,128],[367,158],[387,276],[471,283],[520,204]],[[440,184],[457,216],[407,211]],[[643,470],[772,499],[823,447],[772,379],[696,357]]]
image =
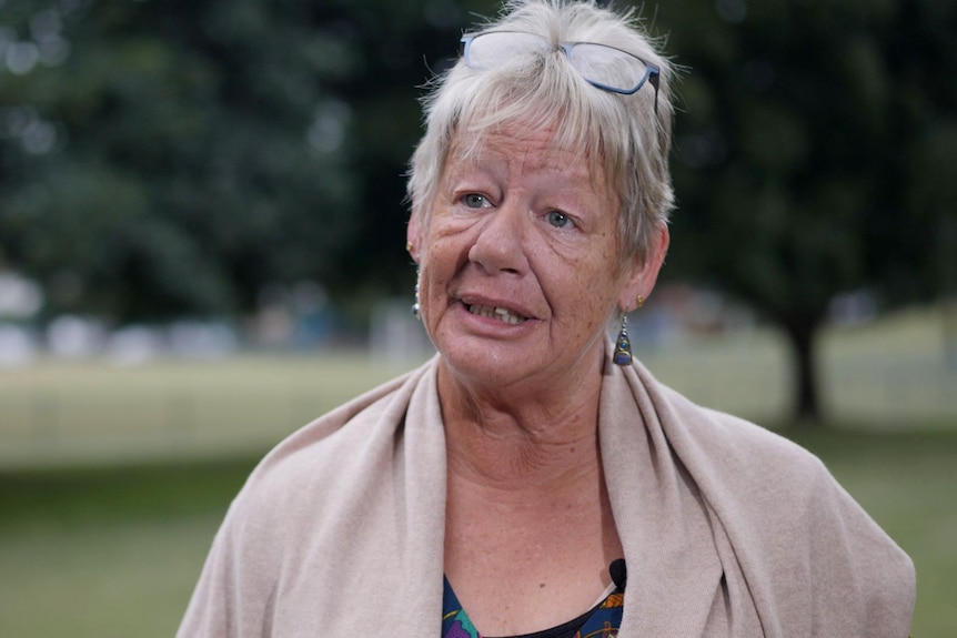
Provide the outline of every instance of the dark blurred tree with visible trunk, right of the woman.
[[673,274],[784,330],[794,418],[819,422],[815,338],[835,295],[955,292],[957,3],[677,0],[655,28],[689,68]]

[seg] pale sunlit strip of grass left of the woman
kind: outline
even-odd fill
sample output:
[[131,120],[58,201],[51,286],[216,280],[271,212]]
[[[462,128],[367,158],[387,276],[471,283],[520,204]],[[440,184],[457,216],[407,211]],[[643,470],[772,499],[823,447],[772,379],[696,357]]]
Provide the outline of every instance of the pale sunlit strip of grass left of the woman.
[[402,369],[365,353],[34,363],[0,373],[0,466],[261,453]]

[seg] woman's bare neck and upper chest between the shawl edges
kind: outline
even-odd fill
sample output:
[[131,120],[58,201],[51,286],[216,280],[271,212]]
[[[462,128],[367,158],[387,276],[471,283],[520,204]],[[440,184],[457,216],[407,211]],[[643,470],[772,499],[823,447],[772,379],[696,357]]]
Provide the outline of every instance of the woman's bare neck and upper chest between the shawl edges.
[[598,449],[601,374],[483,393],[439,369],[443,565],[483,631],[527,634],[588,609],[623,555]]

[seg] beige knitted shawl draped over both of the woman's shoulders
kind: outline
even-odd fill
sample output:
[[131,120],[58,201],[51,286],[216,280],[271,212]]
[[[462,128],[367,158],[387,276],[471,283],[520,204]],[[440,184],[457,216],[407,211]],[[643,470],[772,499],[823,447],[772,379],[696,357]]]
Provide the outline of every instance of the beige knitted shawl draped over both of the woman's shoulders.
[[[263,459],[180,637],[439,638],[436,363]],[[910,560],[809,453],[692,404],[638,364],[607,365],[598,427],[628,565],[621,638],[907,636]]]

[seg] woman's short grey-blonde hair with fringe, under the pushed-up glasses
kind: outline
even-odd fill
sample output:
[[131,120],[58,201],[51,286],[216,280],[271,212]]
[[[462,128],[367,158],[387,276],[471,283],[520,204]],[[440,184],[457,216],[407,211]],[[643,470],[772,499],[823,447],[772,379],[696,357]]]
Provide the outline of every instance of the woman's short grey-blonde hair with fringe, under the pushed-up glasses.
[[[530,51],[507,69],[476,71],[463,60],[432,83],[424,98],[425,134],[412,155],[407,184],[413,214],[435,196],[450,150],[460,133],[481,133],[510,122],[561,123],[554,143],[601,162],[619,203],[622,264],[644,261],[656,229],[674,207],[668,172],[673,105],[672,68],[657,53],[633,11],[616,13],[594,1],[513,0],[483,31],[524,31],[557,45],[595,42],[622,49],[659,70],[657,95],[649,83],[632,95],[584,82],[564,55]],[[593,165],[593,174],[595,166]]]

